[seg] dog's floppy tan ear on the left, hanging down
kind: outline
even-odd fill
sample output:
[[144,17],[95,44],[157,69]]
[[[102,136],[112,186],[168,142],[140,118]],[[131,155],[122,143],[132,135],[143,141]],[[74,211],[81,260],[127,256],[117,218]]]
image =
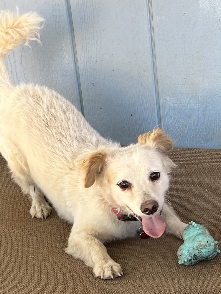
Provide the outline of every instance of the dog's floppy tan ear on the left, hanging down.
[[85,188],[89,188],[94,184],[96,176],[103,170],[106,156],[107,152],[102,149],[90,154],[83,162],[82,168],[85,170]]

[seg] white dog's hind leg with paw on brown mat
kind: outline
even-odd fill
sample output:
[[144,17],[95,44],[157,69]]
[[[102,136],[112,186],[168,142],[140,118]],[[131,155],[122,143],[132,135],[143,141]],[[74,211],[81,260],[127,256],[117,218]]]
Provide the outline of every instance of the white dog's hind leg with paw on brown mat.
[[21,187],[24,194],[31,196],[32,206],[29,212],[32,218],[47,218],[51,213],[51,207],[32,180],[26,158],[13,143],[9,141],[2,143],[3,140],[1,140],[0,151],[8,162],[12,179]]

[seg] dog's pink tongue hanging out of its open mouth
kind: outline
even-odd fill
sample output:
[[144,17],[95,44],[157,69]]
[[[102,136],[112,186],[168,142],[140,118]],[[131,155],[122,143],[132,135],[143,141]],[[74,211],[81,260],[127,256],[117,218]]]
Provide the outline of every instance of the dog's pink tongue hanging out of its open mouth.
[[142,218],[142,223],[144,232],[152,238],[159,238],[166,228],[166,224],[159,213]]

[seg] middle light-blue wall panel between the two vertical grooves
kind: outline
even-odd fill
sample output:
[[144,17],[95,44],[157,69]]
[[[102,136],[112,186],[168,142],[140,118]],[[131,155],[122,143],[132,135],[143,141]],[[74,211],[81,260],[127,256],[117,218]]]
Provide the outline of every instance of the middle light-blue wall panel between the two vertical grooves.
[[121,144],[156,125],[146,0],[71,0],[85,118]]

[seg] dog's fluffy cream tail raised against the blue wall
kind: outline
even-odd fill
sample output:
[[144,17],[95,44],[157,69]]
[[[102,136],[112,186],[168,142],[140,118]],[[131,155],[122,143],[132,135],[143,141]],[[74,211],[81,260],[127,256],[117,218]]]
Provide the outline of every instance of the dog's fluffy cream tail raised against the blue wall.
[[44,19],[35,12],[19,15],[9,11],[0,11],[0,87],[10,87],[9,76],[4,69],[2,59],[20,43],[28,45],[30,40],[39,41],[38,31]]

